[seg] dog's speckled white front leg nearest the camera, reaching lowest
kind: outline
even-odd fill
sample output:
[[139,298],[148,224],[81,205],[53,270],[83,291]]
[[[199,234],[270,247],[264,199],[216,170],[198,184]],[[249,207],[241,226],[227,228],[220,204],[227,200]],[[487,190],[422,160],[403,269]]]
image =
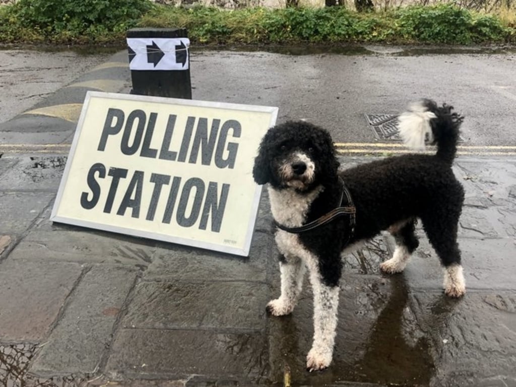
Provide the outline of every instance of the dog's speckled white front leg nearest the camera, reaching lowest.
[[333,357],[339,287],[325,283],[317,262],[309,264],[309,269],[314,293],[314,342],[308,352],[307,369],[312,372],[327,368]]

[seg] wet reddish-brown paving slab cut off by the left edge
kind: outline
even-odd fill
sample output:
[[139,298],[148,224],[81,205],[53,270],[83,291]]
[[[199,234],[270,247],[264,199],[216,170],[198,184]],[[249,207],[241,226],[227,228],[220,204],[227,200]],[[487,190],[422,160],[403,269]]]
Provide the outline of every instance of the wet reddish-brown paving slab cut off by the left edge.
[[2,263],[0,342],[42,342],[82,271],[73,263]]

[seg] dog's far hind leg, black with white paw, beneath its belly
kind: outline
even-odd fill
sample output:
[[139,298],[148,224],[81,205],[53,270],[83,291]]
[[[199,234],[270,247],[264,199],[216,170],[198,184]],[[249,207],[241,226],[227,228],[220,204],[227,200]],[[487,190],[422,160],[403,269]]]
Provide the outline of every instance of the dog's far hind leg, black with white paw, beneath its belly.
[[396,249],[390,260],[382,262],[380,269],[389,274],[399,273],[405,269],[410,255],[419,246],[419,241],[415,235],[415,219],[411,219],[392,231],[396,240]]

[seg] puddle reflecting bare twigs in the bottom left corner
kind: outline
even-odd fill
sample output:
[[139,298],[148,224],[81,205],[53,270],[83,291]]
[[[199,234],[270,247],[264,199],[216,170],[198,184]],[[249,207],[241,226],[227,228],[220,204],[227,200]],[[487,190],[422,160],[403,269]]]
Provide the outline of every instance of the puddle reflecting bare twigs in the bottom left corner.
[[35,344],[0,344],[0,385],[3,387],[78,387],[84,379],[74,376],[35,378],[28,375]]

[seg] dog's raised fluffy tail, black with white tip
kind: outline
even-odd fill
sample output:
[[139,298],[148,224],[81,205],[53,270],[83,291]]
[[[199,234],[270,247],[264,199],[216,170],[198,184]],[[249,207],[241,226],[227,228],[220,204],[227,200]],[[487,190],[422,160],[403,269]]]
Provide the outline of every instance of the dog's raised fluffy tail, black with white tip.
[[437,144],[436,156],[451,164],[457,152],[462,116],[452,112],[453,106],[422,100],[409,106],[398,117],[398,131],[406,146],[423,150],[425,143]]

